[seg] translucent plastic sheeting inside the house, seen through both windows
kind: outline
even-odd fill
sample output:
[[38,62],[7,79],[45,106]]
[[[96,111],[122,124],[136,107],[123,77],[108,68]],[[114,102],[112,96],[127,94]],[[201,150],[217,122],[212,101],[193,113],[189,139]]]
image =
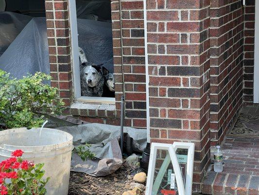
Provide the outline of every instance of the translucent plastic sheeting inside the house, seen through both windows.
[[[85,19],[77,21],[79,46],[85,51],[88,61],[104,63],[104,67],[113,72],[111,23]],[[0,69],[14,78],[35,72],[50,74],[46,18],[30,20],[0,57]]]

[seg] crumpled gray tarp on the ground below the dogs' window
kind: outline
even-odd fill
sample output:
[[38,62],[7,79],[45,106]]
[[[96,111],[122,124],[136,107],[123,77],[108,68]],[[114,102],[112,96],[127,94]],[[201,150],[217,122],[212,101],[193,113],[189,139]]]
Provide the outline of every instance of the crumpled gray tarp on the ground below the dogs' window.
[[[84,143],[92,145],[90,151],[96,154],[93,160],[83,161],[77,154],[72,154],[71,171],[86,173],[90,176],[107,176],[121,167],[122,156],[118,139],[121,127],[98,123],[58,127],[73,136],[74,146]],[[143,151],[146,147],[145,129],[124,127],[124,133],[133,138],[133,150]]]

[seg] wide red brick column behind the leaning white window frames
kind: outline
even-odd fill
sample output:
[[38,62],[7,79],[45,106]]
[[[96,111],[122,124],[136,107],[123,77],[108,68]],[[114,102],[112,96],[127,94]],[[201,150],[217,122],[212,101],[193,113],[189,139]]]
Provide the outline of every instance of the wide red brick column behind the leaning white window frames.
[[210,156],[209,3],[147,0],[151,139],[195,144],[196,192]]

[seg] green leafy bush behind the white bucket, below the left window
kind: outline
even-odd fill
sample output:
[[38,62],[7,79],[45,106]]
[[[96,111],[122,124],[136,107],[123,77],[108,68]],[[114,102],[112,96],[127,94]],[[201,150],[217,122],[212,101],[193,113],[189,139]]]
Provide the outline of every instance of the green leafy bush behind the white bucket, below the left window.
[[0,70],[0,123],[8,129],[39,127],[44,114],[61,114],[64,104],[58,100],[57,89],[43,84],[50,79],[44,73],[16,79]]

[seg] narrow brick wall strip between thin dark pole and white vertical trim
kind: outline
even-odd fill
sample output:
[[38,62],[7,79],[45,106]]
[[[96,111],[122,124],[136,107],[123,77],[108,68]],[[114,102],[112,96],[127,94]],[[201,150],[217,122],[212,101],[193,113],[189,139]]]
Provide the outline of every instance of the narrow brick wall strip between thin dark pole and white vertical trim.
[[125,117],[131,126],[146,127],[146,79],[143,0],[121,0]]

